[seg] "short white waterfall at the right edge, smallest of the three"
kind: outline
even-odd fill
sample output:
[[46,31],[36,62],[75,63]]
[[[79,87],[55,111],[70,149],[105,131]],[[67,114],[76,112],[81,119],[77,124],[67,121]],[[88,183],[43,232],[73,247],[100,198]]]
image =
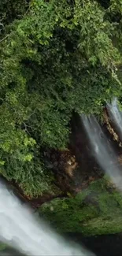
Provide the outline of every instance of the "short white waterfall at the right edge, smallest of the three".
[[107,104],[107,109],[110,119],[116,124],[117,132],[122,138],[122,113],[117,106],[117,98],[114,98],[111,104]]

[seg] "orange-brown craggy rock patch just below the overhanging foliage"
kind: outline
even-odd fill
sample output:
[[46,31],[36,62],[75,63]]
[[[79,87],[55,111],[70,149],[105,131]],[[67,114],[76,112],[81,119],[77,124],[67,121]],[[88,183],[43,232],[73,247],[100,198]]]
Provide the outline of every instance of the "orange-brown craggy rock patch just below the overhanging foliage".
[[44,154],[47,168],[54,173],[55,184],[61,191],[67,193],[73,191],[73,177],[75,176],[78,163],[71,150],[47,150]]

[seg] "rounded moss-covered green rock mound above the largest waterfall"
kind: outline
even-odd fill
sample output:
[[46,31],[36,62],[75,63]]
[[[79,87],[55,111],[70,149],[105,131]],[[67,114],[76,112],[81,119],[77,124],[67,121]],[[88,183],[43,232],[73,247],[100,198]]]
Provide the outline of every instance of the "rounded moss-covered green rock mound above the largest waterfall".
[[80,232],[84,236],[122,232],[122,195],[103,178],[75,198],[44,203],[39,214],[58,232]]

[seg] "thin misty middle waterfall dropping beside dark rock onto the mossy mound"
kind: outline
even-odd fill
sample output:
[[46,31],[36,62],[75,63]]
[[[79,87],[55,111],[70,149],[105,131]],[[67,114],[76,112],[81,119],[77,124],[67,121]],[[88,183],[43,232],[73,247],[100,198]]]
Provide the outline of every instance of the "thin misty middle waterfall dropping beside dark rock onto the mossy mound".
[[116,154],[110,147],[102,128],[94,116],[82,115],[81,119],[91,143],[91,153],[116,187],[122,191],[122,171],[116,166]]

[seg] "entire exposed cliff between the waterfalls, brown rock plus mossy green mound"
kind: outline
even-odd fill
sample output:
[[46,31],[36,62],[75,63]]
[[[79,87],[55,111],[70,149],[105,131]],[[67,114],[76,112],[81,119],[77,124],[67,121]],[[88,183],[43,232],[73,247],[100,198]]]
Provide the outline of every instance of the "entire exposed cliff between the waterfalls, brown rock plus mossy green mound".
[[[120,139],[114,137],[107,113],[104,117],[102,128],[116,150],[116,165],[121,165]],[[41,217],[63,233],[94,236],[122,231],[122,197],[97,165],[79,121],[72,122],[68,150],[47,150],[44,158],[56,189],[28,198],[31,206],[39,207]]]

